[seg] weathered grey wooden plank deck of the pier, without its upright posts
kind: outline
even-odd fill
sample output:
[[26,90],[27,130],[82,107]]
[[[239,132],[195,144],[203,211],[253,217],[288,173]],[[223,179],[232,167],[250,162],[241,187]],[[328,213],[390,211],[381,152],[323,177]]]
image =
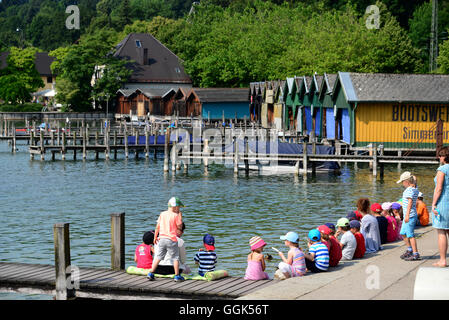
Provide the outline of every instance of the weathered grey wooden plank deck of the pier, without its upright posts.
[[[78,296],[84,298],[114,295],[151,297],[155,299],[236,299],[255,290],[270,286],[277,280],[250,281],[239,277],[226,277],[215,281],[156,278],[148,281],[144,276],[104,268],[79,268]],[[55,289],[55,267],[52,265],[0,262],[0,288]]]

